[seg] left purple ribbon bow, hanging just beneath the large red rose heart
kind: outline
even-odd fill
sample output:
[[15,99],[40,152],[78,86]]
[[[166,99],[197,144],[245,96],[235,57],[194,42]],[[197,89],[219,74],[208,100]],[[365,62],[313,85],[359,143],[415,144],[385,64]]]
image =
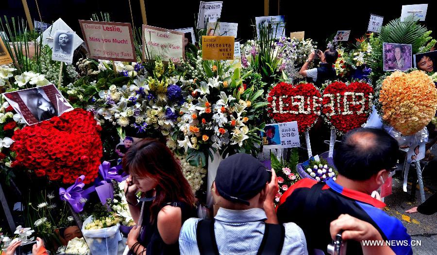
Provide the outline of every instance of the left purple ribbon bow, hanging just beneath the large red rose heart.
[[87,188],[83,190],[85,176],[79,176],[74,184],[67,189],[60,187],[59,188],[59,196],[61,200],[68,202],[71,205],[73,210],[78,213],[84,209],[84,202],[81,202],[82,198],[86,198],[86,196],[95,189],[95,187]]

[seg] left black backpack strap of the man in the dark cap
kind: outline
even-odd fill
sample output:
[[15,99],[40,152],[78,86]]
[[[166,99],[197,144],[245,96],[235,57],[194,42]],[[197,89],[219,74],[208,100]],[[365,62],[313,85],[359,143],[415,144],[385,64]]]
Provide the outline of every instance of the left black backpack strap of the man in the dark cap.
[[196,239],[201,255],[219,255],[214,233],[214,219],[197,222]]

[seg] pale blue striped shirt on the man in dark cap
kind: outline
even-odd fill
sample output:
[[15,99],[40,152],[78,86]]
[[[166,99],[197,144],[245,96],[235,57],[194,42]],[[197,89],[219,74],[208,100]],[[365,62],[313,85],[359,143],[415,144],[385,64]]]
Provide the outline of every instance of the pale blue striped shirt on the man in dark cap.
[[[218,252],[226,255],[256,255],[264,236],[266,213],[261,208],[230,210],[219,208],[214,222]],[[185,221],[179,235],[181,255],[200,255],[196,228],[201,219]],[[281,255],[307,255],[303,231],[293,222],[284,223],[285,239]]]

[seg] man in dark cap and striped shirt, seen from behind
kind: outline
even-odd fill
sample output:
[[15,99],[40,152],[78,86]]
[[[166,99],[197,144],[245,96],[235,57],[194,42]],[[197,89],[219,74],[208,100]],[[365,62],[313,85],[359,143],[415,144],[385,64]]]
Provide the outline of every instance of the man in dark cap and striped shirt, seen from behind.
[[277,191],[276,174],[256,158],[238,153],[224,159],[212,187],[217,215],[213,221],[185,221],[179,236],[181,254],[308,254],[300,227],[277,224]]

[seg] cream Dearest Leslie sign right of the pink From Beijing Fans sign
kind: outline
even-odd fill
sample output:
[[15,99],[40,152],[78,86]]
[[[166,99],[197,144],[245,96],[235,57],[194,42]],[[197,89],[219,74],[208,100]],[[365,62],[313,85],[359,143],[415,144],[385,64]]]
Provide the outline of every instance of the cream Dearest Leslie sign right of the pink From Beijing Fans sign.
[[171,60],[181,63],[184,59],[184,33],[143,25],[143,59]]

